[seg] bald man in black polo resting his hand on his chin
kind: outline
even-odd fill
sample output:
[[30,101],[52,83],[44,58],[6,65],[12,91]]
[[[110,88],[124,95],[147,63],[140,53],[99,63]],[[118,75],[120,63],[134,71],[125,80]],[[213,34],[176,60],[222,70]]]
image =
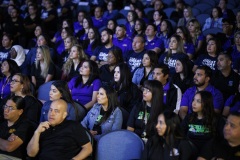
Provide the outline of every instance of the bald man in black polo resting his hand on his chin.
[[67,103],[52,102],[48,121],[39,124],[27,146],[30,157],[39,159],[84,159],[92,153],[92,146],[83,127],[65,120]]

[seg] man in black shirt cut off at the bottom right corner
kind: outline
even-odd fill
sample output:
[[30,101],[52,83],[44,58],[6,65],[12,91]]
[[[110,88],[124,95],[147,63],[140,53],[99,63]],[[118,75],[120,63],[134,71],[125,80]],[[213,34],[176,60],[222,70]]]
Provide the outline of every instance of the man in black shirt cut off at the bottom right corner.
[[224,139],[212,140],[203,148],[198,160],[240,159],[240,113],[233,112],[227,118],[223,129]]

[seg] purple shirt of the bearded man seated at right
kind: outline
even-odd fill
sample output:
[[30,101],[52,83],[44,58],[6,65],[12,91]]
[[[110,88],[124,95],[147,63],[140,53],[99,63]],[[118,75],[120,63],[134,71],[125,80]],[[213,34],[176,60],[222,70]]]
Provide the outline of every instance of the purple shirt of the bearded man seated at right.
[[[224,104],[222,93],[210,84],[205,88],[205,91],[208,91],[212,94],[214,109],[218,109],[221,111]],[[194,86],[194,87],[188,88],[182,96],[182,101],[180,106],[181,107],[187,106],[188,114],[192,113],[192,101],[196,92],[197,92],[197,87]]]

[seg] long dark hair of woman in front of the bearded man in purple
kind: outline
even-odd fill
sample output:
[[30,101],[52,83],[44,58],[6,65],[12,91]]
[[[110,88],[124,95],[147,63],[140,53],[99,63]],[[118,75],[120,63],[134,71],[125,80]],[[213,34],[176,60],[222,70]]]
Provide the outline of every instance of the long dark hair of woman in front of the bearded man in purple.
[[[214,112],[213,96],[208,91],[198,91],[195,95],[201,96],[203,125],[208,127],[213,135],[216,135],[216,115]],[[197,113],[193,112],[190,116],[190,122],[197,119]]]

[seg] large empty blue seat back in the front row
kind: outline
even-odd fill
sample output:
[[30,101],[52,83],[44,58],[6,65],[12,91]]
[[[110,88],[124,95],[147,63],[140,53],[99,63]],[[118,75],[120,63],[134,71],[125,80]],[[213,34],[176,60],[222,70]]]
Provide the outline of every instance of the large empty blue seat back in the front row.
[[135,133],[117,130],[103,135],[97,144],[97,160],[140,159],[144,143]]

